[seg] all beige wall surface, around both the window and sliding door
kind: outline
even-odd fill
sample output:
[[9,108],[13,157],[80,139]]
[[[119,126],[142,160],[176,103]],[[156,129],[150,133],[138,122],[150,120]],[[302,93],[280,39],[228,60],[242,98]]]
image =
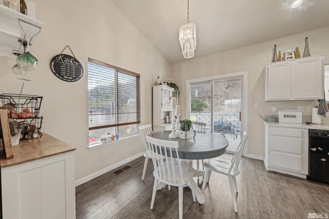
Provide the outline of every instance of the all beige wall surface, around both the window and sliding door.
[[[174,78],[181,94],[182,118],[185,117],[186,79],[248,71],[248,153],[263,156],[264,125],[259,114],[277,109],[304,106],[310,114],[317,101],[264,102],[264,74],[271,61],[272,48],[278,51],[300,47],[308,36],[311,55],[329,53],[329,27],[217,53],[170,65],[143,35],[124,17],[111,1],[41,1],[35,0],[36,18],[45,23],[30,52],[40,65],[25,76],[23,93],[44,96],[42,131],[77,148],[76,180],[101,171],[142,152],[139,138],[107,147],[88,150],[87,59],[88,57],[141,75],[141,124],[152,122],[152,85],[156,77]],[[220,40],[220,39],[218,39]],[[73,83],[58,79],[50,70],[50,59],[69,45],[84,68],[83,77]],[[17,44],[18,46],[18,44]],[[70,51],[66,49],[66,54]],[[196,49],[197,53],[197,49]],[[71,55],[71,54],[70,54]],[[329,56],[325,62],[329,63]],[[22,81],[11,67],[14,59],[0,57],[0,93],[19,93]],[[259,103],[259,109],[253,109]],[[329,123],[329,119],[322,120]]]

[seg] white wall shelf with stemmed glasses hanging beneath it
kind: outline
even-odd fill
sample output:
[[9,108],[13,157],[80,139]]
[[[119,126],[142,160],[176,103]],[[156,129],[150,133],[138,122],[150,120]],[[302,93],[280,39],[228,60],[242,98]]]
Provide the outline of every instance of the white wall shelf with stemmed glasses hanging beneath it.
[[[5,57],[12,57],[12,49],[18,50],[20,43],[19,38],[24,38],[24,31],[20,26],[19,19],[21,20],[22,28],[26,32],[27,36],[32,37],[43,28],[44,23],[36,20],[31,16],[27,16],[23,13],[17,12],[13,9],[0,5],[0,55]],[[35,41],[30,42],[33,44]],[[23,51],[21,48],[20,51]]]

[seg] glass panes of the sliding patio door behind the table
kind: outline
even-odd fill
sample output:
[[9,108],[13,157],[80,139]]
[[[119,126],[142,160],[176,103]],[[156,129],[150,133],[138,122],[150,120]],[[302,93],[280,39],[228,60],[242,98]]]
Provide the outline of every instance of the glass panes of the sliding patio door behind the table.
[[189,83],[189,117],[229,141],[235,151],[241,140],[242,76]]

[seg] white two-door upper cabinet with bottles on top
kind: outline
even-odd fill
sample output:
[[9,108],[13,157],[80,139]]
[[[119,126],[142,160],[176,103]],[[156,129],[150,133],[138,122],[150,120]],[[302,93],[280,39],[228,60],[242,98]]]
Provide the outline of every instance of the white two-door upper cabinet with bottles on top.
[[266,65],[265,101],[322,99],[324,55]]

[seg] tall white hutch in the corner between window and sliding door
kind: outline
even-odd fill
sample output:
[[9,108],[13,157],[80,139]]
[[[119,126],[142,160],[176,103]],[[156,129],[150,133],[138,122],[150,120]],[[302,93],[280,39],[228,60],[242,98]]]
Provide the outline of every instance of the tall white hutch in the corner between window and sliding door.
[[169,116],[171,121],[171,97],[173,92],[174,88],[165,85],[153,86],[153,132],[163,131],[166,126],[171,126],[171,123],[166,123],[166,116]]

